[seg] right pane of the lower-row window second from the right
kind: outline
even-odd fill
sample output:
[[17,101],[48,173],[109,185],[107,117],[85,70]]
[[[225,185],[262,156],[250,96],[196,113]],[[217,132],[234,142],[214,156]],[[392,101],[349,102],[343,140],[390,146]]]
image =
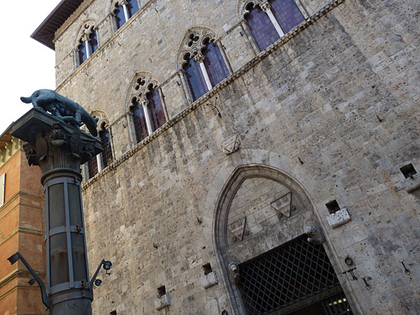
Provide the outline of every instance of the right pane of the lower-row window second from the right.
[[221,50],[215,43],[209,43],[204,51],[204,57],[204,64],[209,74],[211,85],[218,85],[221,80],[229,75]]

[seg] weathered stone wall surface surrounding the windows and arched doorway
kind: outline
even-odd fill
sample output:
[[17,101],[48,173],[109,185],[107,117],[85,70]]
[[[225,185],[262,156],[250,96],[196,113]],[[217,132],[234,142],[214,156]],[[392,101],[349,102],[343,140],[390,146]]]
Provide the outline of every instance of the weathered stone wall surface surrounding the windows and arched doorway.
[[[101,20],[105,2],[93,1],[85,12]],[[95,291],[94,314],[158,314],[159,286],[172,300],[167,314],[235,314],[237,295],[225,260],[264,253],[302,235],[308,224],[323,228],[323,246],[354,311],[418,314],[420,195],[405,190],[400,172],[408,163],[420,169],[417,2],[344,1],[254,59],[242,26],[231,30],[239,21],[237,3],[214,2],[153,2],[116,34],[101,33],[104,46],[76,71],[65,55],[84,14],[75,13],[59,34],[58,92],[106,112],[116,153],[116,162],[83,190],[90,268],[102,258],[113,262],[111,276],[102,276]],[[325,3],[302,1],[309,16]],[[224,36],[237,72],[190,105],[177,84],[175,56],[186,29],[195,25]],[[165,83],[171,121],[133,148],[123,115],[127,85],[142,70]],[[241,148],[225,155],[221,144],[235,134]],[[265,174],[262,165],[277,175]],[[302,211],[218,247],[218,218],[230,214],[218,205],[235,196],[225,187],[241,166],[264,179],[262,186],[274,181],[292,191]],[[246,195],[257,200],[263,194]],[[351,216],[335,229],[326,220],[331,200]],[[249,210],[246,216],[252,215]],[[342,274],[347,255],[358,281]],[[219,281],[206,289],[200,279],[207,262]]]

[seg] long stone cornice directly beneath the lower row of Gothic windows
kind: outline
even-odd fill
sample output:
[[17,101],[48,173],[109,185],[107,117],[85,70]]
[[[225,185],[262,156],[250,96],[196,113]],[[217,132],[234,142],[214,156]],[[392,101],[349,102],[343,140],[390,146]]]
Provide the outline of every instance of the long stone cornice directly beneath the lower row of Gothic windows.
[[319,20],[323,15],[328,13],[332,8],[335,8],[336,6],[339,6],[339,4],[343,3],[345,0],[332,0],[330,1],[326,6],[321,8],[321,10],[318,10],[314,15],[311,15],[307,20],[304,20],[300,25],[297,25],[293,30],[289,31],[288,34],[281,37],[278,41],[273,43],[272,45],[269,45],[265,50],[260,52],[257,56],[255,56],[251,61],[247,62],[244,66],[242,66],[240,69],[238,69],[235,73],[233,73],[228,78],[225,78],[225,80],[221,81],[218,85],[216,85],[213,89],[211,89],[209,92],[204,94],[200,99],[197,99],[193,104],[188,106],[186,109],[181,111],[178,115],[176,115],[174,118],[169,120],[165,125],[162,125],[158,130],[155,130],[153,134],[149,135],[147,138],[140,141],[136,146],[131,148],[129,151],[124,153],[120,158],[115,160],[111,163],[108,167],[102,170],[102,172],[99,172],[96,174],[92,179],[87,181],[86,183],[83,183],[82,190],[87,189],[88,187],[92,186],[93,183],[101,179],[103,176],[111,172],[111,170],[116,169],[119,165],[121,165],[123,162],[128,160],[129,158],[134,155],[134,153],[137,153],[137,151],[140,151],[141,148],[144,148],[146,144],[153,141],[153,139],[160,136],[160,134],[164,133],[165,131],[169,130],[170,127],[178,123],[180,120],[182,120],[184,117],[188,116],[192,111],[195,111],[198,106],[201,106],[202,104],[205,104],[211,99],[211,97],[214,97],[219,91],[223,90],[226,86],[230,85],[232,82],[237,80],[237,78],[240,78],[244,73],[251,70],[254,66],[259,64],[263,59],[265,59],[267,56],[271,55],[275,50],[279,49],[281,46],[283,46],[285,43],[290,41],[290,39],[294,38],[297,34],[299,34],[302,30],[306,29],[314,23],[316,20]]

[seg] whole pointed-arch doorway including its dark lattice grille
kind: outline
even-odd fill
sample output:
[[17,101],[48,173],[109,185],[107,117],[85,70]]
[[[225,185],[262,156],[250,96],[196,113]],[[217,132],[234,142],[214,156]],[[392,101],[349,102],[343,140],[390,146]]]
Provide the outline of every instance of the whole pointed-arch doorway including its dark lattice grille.
[[233,314],[351,315],[297,181],[267,165],[237,167],[216,204],[214,244]]

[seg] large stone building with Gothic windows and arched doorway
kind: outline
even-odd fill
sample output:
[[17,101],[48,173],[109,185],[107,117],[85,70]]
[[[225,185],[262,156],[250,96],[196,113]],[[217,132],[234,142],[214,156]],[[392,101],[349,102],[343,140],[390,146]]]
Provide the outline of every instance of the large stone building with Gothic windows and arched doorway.
[[94,314],[419,314],[418,1],[134,1],[33,34],[107,148]]

